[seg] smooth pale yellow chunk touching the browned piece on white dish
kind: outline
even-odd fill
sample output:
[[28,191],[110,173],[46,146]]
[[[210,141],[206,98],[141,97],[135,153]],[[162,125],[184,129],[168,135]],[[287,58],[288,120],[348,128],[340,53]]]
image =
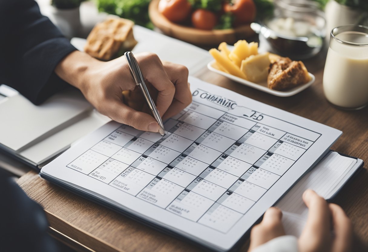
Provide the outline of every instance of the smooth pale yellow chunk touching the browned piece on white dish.
[[251,55],[241,62],[240,70],[243,71],[249,81],[259,83],[267,80],[270,66],[269,53]]

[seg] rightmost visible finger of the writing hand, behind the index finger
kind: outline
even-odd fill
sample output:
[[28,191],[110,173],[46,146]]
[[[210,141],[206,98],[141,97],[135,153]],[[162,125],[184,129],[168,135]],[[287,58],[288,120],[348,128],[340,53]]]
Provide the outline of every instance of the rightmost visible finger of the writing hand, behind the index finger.
[[175,85],[173,102],[163,115],[163,119],[176,115],[192,102],[192,94],[188,84],[188,69],[185,66],[163,62],[164,69]]

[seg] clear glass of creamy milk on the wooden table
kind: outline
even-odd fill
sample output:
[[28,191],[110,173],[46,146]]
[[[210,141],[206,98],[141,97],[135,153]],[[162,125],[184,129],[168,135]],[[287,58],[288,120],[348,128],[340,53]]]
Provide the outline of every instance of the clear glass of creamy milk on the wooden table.
[[343,109],[368,104],[368,27],[345,25],[332,29],[323,72],[327,100]]

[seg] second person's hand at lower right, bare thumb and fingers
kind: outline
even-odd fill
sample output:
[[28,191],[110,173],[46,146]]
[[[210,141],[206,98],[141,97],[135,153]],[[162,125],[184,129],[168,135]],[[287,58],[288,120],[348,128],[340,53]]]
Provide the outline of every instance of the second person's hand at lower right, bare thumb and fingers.
[[[344,210],[329,204],[313,190],[303,193],[308,207],[308,219],[298,239],[299,252],[348,252],[351,250],[352,226]],[[248,252],[273,238],[285,235],[282,212],[269,208],[260,224],[251,230]]]

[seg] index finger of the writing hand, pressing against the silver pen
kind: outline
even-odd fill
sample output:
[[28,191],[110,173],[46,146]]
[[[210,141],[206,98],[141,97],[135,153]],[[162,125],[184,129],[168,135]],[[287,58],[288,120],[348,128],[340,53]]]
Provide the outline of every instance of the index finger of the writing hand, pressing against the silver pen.
[[151,83],[159,92],[156,108],[160,115],[164,115],[171,105],[175,94],[174,84],[170,81],[159,57],[153,53],[141,53],[137,56],[139,67],[146,81]]

